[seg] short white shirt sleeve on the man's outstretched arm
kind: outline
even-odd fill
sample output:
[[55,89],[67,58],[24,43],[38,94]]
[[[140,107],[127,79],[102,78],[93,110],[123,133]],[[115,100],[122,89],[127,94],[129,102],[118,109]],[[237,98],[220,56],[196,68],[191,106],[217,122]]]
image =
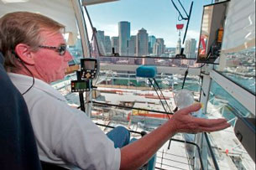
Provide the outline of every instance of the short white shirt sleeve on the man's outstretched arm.
[[54,154],[82,169],[119,169],[120,149],[84,112],[51,97],[39,98],[33,109],[35,135],[48,157]]

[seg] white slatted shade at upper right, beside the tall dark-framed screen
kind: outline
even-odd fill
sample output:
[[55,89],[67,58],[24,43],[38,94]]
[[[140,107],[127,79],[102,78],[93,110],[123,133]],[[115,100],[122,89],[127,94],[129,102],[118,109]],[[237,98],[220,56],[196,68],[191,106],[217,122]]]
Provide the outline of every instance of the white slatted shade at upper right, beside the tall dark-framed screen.
[[222,52],[255,47],[255,0],[232,0],[227,9]]

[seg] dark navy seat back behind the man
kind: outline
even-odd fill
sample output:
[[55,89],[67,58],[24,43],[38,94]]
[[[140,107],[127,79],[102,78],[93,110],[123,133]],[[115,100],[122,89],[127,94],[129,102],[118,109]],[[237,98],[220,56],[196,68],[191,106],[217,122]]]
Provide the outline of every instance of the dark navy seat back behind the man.
[[0,169],[41,169],[29,111],[0,52]]

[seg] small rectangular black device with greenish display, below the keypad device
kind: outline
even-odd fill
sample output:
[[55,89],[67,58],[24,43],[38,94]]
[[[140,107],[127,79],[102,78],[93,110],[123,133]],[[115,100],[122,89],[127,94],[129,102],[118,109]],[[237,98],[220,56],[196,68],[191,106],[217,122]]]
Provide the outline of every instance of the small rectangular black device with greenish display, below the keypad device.
[[91,81],[71,80],[71,92],[84,92],[91,90]]

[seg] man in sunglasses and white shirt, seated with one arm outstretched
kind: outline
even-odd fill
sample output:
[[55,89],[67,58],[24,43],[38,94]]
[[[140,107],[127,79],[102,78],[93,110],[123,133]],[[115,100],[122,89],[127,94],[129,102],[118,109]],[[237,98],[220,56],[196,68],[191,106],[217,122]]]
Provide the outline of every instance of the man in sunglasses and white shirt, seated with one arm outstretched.
[[60,23],[38,13],[8,13],[0,18],[5,68],[24,94],[41,160],[82,169],[137,169],[177,132],[219,131],[229,126],[224,119],[192,117],[190,113],[201,108],[196,104],[177,111],[138,141],[115,148],[86,114],[68,106],[49,85],[64,78],[72,59],[63,29]]

